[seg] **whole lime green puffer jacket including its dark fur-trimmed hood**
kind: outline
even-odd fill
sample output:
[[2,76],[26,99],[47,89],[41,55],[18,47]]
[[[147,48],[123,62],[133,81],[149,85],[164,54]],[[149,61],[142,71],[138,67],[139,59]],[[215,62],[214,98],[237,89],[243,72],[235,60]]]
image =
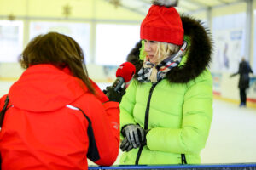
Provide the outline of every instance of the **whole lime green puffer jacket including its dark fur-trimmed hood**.
[[[212,76],[207,66],[211,61],[212,39],[200,20],[181,16],[184,39],[189,43],[182,62],[168,71],[154,88],[148,106],[147,145],[122,153],[120,164],[189,164],[201,163],[212,122]],[[136,74],[119,105],[120,129],[128,124],[144,128],[151,82],[137,82],[143,67],[140,58],[143,43],[138,42],[127,57],[136,66]],[[143,55],[142,55],[143,57]],[[146,126],[147,127],[147,126]],[[121,136],[122,138],[122,136]],[[183,156],[181,156],[183,155]]]

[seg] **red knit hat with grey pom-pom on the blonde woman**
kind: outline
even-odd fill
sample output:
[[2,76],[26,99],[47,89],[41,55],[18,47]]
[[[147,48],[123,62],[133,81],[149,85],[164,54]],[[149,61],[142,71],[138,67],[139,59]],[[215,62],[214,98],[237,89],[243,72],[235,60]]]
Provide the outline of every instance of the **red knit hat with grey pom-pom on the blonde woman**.
[[141,24],[141,39],[183,44],[183,24],[177,10],[177,0],[154,0]]

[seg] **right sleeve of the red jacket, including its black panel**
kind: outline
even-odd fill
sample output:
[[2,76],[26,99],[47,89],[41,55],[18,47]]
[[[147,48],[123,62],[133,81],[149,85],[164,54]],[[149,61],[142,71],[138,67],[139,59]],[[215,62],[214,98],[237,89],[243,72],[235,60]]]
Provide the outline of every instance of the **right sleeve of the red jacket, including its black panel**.
[[87,157],[97,165],[111,166],[119,154],[119,103],[108,101],[99,88],[96,94],[83,99],[84,114],[90,118]]

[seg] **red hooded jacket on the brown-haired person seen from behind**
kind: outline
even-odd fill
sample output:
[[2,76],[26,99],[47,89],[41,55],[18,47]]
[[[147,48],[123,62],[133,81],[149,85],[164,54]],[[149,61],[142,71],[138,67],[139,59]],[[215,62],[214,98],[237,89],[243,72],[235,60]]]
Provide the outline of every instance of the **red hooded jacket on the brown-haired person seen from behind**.
[[2,170],[87,169],[87,157],[112,165],[119,152],[119,104],[93,85],[96,95],[68,69],[53,65],[24,71],[9,89],[11,106],[0,133]]

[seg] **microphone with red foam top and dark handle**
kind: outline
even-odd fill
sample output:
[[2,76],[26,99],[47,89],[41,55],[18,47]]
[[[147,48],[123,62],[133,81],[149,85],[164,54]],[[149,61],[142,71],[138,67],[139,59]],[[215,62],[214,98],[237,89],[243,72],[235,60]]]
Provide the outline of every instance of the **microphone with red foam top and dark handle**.
[[129,82],[131,80],[135,74],[135,71],[135,66],[130,62],[125,62],[122,65],[119,65],[119,68],[115,74],[116,80],[113,82],[111,88],[113,88],[115,92],[118,92],[119,88],[122,88],[125,82]]

